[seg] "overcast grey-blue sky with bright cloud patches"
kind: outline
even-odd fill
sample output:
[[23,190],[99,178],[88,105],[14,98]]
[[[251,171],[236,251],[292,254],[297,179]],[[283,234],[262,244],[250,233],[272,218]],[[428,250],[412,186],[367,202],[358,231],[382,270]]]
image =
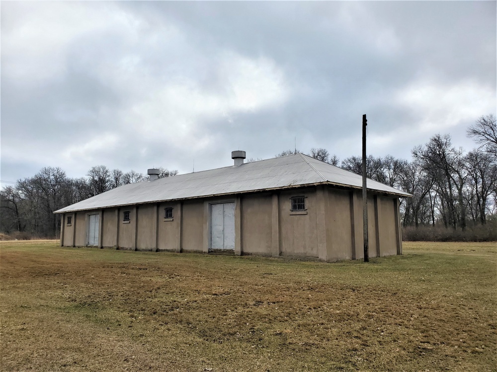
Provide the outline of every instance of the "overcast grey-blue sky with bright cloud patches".
[[[1,180],[411,149],[496,114],[496,1],[1,2]],[[2,184],[4,186],[5,184]]]

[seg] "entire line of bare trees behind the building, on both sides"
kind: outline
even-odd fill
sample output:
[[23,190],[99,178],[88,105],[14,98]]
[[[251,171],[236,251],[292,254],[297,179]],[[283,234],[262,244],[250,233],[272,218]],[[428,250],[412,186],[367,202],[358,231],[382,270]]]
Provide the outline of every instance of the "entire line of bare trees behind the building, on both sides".
[[[411,161],[390,155],[368,156],[368,178],[414,195],[401,199],[402,225],[410,239],[437,240],[437,236],[443,236],[440,239],[449,240],[446,236],[453,236],[459,240],[478,240],[479,234],[486,236],[482,236],[482,240],[495,239],[492,238],[495,234],[488,233],[495,230],[497,221],[495,116],[482,116],[467,129],[467,135],[478,144],[469,152],[453,146],[450,135],[436,134],[427,143],[412,149]],[[301,151],[286,150],[276,156],[298,152]],[[362,175],[359,156],[340,162],[324,148],[312,148],[308,155]],[[248,159],[248,162],[256,160],[260,159]],[[161,178],[177,174],[177,171],[163,168],[160,171]],[[56,237],[60,230],[60,215],[54,215],[53,211],[112,188],[147,179],[148,176],[141,173],[110,171],[103,165],[92,167],[85,178],[77,179],[68,178],[60,168],[43,168],[35,176],[0,191],[0,232]],[[486,226],[489,221],[492,226]],[[421,230],[416,228],[428,226],[432,228],[423,231],[430,233],[420,237]],[[408,227],[414,230],[406,229]],[[435,234],[439,229],[446,231]]]

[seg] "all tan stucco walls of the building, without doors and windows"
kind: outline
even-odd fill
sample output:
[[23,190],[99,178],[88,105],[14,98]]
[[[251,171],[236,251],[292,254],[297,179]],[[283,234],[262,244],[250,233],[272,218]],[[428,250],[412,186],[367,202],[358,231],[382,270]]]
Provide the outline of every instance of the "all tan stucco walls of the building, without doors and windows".
[[[305,195],[305,213],[292,212],[291,197]],[[229,200],[228,200],[229,199]],[[99,247],[207,252],[209,205],[235,200],[235,254],[316,257],[326,261],[363,258],[362,194],[330,186],[197,199],[106,210],[80,211],[64,220],[63,246],[84,247],[88,215],[99,213]],[[164,208],[173,208],[165,219]],[[402,252],[398,202],[368,195],[369,256]],[[124,222],[123,212],[130,211]]]

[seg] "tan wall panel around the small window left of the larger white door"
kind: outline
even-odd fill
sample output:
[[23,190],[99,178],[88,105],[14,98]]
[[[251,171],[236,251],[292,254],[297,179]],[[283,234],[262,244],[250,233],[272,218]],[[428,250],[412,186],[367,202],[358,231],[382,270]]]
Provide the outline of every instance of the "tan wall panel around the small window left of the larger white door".
[[[164,208],[172,208],[172,221],[164,218]],[[180,251],[181,203],[159,205],[158,250]]]

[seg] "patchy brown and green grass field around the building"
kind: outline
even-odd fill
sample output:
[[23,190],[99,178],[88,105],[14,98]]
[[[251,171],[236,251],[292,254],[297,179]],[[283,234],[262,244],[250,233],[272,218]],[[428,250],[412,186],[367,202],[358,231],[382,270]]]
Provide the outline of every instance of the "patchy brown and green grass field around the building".
[[0,244],[1,371],[497,371],[496,243],[331,264]]

